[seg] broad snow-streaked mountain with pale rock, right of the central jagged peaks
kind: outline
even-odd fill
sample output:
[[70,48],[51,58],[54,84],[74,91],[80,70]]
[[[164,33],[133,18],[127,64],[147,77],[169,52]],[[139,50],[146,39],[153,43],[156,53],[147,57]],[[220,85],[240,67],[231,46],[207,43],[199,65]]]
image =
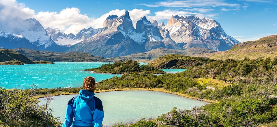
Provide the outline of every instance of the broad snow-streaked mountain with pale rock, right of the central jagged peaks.
[[240,43],[228,36],[220,24],[213,19],[199,16],[172,16],[164,29],[179,46],[185,48],[201,47],[225,51]]

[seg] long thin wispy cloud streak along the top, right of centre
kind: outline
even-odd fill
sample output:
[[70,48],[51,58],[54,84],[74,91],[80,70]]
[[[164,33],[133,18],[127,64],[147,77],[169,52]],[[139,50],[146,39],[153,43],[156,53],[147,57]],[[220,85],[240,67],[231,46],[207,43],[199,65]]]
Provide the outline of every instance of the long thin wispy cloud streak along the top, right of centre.
[[240,6],[237,3],[226,3],[223,0],[169,0],[169,1],[161,1],[155,2],[153,4],[141,4],[147,7],[172,7],[172,8],[192,8],[192,7],[218,7],[218,6]]

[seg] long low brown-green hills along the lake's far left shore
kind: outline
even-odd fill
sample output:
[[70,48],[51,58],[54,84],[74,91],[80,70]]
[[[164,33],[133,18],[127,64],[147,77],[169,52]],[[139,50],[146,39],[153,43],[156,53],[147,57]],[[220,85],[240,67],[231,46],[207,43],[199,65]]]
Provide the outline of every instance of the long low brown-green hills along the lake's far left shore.
[[52,62],[112,62],[104,57],[94,57],[89,53],[68,52],[56,53],[49,51],[37,51],[34,49],[17,48],[14,51],[21,53],[33,61],[52,61]]

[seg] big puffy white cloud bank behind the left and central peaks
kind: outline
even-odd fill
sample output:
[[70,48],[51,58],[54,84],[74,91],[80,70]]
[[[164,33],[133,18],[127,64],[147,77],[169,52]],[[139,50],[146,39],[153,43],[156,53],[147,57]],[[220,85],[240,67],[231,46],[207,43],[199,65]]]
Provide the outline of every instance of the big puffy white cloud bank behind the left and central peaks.
[[[35,13],[25,7],[24,3],[18,3],[16,0],[0,0],[0,21],[2,26],[7,29],[13,29],[13,24],[18,22],[17,19],[35,18],[37,19],[44,28],[59,28],[65,33],[78,33],[81,29],[93,27],[95,29],[102,28],[103,22],[106,18],[115,14],[121,16],[125,13],[125,10],[112,10],[106,14],[103,14],[99,18],[91,18],[86,14],[81,14],[81,10],[78,8],[65,8],[60,12],[38,12]],[[143,16],[150,14],[149,10],[133,9],[129,11],[130,18],[133,20],[134,27],[136,26],[137,20]],[[149,17],[149,19],[158,19],[155,16]],[[15,26],[14,26],[15,27]]]

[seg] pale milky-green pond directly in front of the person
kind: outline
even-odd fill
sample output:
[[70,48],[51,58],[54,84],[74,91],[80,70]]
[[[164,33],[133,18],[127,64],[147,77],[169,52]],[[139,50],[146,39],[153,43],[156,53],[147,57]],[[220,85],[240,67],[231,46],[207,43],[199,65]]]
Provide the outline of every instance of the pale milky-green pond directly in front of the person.
[[[68,100],[74,96],[76,94],[55,96],[53,102],[50,103],[55,117],[58,117],[61,121],[64,120]],[[95,93],[95,96],[103,102],[103,124],[105,125],[113,125],[118,122],[125,124],[126,122],[138,121],[143,117],[156,119],[157,116],[171,111],[173,107],[191,109],[194,106],[201,107],[208,104],[207,102],[158,91],[111,91]],[[45,103],[44,98],[39,100],[41,100],[41,104]]]

